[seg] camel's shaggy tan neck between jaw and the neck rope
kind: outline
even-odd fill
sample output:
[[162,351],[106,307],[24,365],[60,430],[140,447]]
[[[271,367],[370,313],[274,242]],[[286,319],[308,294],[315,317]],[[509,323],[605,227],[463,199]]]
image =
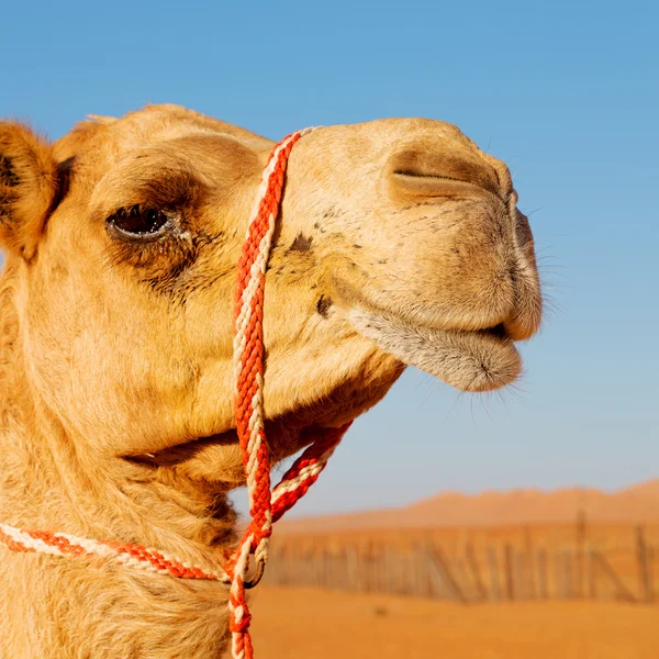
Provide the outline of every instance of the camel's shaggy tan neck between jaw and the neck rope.
[[93,455],[30,379],[11,283],[0,282],[0,521],[141,543],[212,568],[235,539],[226,492]]

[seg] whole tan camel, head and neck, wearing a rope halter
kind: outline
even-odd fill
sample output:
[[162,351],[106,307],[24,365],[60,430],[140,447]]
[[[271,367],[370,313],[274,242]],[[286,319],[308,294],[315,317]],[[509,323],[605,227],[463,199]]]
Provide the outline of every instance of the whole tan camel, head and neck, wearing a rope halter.
[[[234,546],[233,289],[272,146],[175,105],[92,118],[55,143],[0,123],[0,522],[210,570]],[[515,342],[543,305],[516,203],[505,165],[447,123],[299,141],[266,275],[273,461],[366,412],[409,365],[465,391],[518,377]],[[224,583],[0,557],[1,657],[226,648]]]

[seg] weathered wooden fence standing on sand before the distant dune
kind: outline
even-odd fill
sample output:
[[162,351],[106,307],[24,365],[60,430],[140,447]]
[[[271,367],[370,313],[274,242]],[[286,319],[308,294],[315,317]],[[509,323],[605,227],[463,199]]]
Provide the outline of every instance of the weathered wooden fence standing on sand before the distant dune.
[[[316,543],[288,538],[271,549],[266,582],[455,602],[618,600],[652,603],[659,546],[635,530],[635,547],[605,551],[585,537],[561,548],[466,544],[449,556],[436,541]],[[624,568],[624,569],[623,569]]]

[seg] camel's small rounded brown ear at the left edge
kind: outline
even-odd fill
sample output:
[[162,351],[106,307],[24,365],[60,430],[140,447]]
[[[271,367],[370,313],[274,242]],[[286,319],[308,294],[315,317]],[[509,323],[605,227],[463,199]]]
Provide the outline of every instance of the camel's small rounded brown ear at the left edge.
[[0,121],[0,246],[30,260],[57,193],[51,145],[27,126]]

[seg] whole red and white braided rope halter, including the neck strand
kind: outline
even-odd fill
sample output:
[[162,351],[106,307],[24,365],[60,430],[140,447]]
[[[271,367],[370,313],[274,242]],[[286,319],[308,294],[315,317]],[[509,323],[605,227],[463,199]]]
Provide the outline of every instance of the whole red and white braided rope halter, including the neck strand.
[[[272,524],[301,499],[317,480],[330,456],[350,424],[326,431],[309,446],[270,489],[270,459],[264,417],[264,291],[266,267],[283,190],[288,158],[293,145],[313,129],[292,133],[270,154],[264,170],[247,236],[238,261],[235,297],[234,369],[236,377],[236,428],[252,521],[224,570],[217,574],[190,566],[156,549],[131,543],[79,538],[64,533],[24,530],[0,524],[0,544],[12,551],[36,551],[53,556],[113,558],[127,567],[168,574],[179,579],[211,579],[231,582],[228,608],[234,659],[253,657],[249,637],[250,614],[245,590],[256,585],[268,560]],[[257,576],[246,580],[249,557],[254,554]]]

